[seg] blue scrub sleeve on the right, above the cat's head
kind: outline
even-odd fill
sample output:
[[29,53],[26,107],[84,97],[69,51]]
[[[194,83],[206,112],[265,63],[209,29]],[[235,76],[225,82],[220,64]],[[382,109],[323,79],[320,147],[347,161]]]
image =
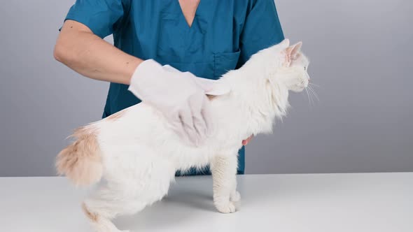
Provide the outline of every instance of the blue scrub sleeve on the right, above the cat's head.
[[251,0],[244,29],[239,39],[241,54],[237,66],[242,66],[256,52],[283,41],[274,0]]

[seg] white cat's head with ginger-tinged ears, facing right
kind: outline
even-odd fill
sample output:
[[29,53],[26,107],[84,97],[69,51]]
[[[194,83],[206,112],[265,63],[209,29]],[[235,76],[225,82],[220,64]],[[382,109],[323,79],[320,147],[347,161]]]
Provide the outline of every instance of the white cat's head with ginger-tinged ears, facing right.
[[282,85],[293,92],[301,92],[309,85],[309,60],[301,52],[301,47],[302,42],[290,45],[290,41],[285,39],[263,51],[267,52],[271,62],[267,66],[269,82]]

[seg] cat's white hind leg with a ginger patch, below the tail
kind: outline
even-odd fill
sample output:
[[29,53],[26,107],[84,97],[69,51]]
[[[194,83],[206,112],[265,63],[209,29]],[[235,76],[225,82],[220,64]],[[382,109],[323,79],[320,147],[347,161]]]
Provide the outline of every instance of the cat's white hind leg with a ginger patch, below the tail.
[[155,155],[148,159],[125,159],[128,155],[124,154],[124,164],[116,172],[109,170],[107,183],[83,203],[83,210],[97,232],[118,232],[111,219],[133,215],[159,201],[174,178],[174,169],[164,159]]

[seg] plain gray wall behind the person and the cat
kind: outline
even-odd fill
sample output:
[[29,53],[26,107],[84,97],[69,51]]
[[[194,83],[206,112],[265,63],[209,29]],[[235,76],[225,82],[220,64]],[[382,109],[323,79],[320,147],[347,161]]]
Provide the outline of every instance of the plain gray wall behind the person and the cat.
[[[102,115],[109,85],[52,57],[73,2],[1,4],[0,176],[55,175],[71,129]],[[274,135],[247,146],[246,173],[413,171],[412,1],[276,6],[286,37],[304,41],[320,100],[293,94]]]

